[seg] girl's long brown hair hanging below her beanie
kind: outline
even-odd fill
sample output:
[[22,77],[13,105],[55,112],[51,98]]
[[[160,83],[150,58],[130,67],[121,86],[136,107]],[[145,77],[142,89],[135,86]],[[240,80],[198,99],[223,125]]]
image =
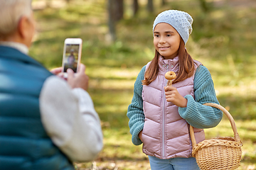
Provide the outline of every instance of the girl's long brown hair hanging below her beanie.
[[[155,56],[149,64],[149,68],[146,69],[144,76],[145,78],[142,80],[142,85],[149,85],[156,79],[159,73],[159,56],[160,54],[156,50]],[[173,84],[193,76],[194,71],[195,65],[193,59],[191,55],[188,54],[185,48],[185,43],[181,39],[180,46],[178,48],[178,74],[176,79],[174,79]]]

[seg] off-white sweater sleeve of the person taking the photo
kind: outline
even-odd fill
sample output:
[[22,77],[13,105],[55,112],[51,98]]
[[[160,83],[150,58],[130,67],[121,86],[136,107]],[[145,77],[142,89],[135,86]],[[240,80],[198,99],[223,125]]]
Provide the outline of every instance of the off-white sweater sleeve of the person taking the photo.
[[102,129],[87,91],[52,76],[39,100],[43,126],[54,144],[73,162],[95,159],[103,147]]

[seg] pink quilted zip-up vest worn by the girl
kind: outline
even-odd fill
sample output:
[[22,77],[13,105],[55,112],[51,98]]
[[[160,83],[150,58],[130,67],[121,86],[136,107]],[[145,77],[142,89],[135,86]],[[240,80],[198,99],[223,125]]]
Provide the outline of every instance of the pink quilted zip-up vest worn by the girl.
[[[197,68],[201,63],[194,60]],[[149,67],[150,62],[146,65]],[[142,90],[145,123],[142,131],[143,152],[146,155],[160,159],[174,157],[191,157],[192,145],[189,136],[189,125],[178,114],[178,106],[167,102],[164,86],[167,80],[164,74],[169,71],[178,72],[178,57],[173,60],[164,60],[159,57],[158,77]],[[184,81],[173,84],[181,96],[193,94],[193,79],[189,77]],[[204,131],[195,128],[196,142],[205,139]]]

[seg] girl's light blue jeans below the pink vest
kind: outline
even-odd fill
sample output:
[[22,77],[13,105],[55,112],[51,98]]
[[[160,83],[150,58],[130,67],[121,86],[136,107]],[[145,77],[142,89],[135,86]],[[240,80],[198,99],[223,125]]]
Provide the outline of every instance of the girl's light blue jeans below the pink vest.
[[200,170],[196,158],[159,159],[149,156],[151,170]]

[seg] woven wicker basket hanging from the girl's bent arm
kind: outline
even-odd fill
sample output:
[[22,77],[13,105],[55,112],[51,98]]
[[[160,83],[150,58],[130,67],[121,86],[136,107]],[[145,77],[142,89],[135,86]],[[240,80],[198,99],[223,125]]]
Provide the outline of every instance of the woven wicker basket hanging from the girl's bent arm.
[[236,169],[240,166],[240,160],[242,159],[242,142],[233,117],[223,106],[215,103],[205,103],[204,105],[218,108],[228,116],[235,137],[215,137],[210,140],[203,140],[196,145],[193,127],[190,126],[193,146],[192,156],[196,157],[196,162],[201,170]]

